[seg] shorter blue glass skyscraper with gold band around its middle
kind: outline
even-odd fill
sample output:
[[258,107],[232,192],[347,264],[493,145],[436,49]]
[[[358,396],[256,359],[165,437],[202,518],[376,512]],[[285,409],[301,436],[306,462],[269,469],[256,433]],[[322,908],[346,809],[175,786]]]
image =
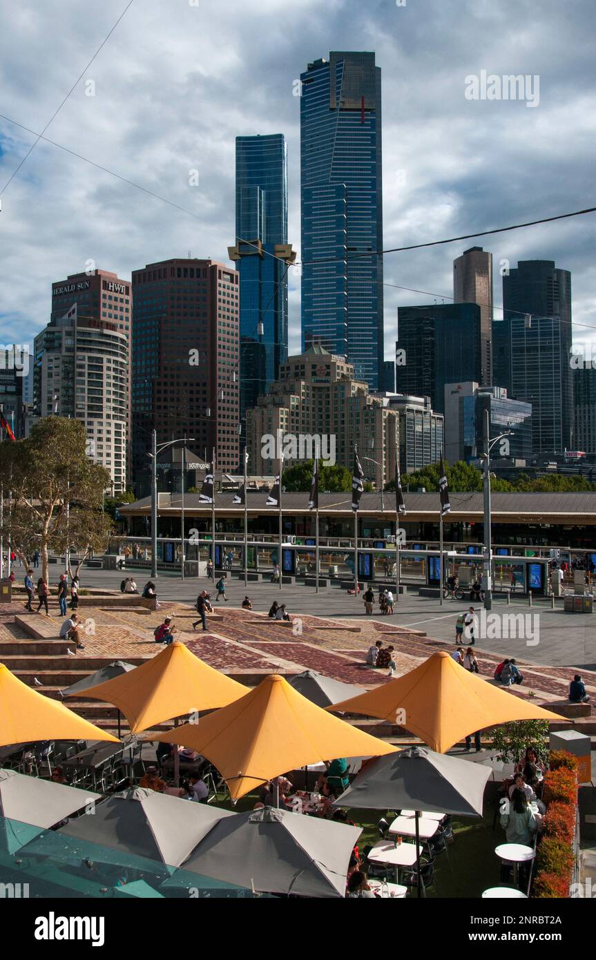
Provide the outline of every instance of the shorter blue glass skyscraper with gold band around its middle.
[[[240,273],[240,419],[288,357],[288,170],[282,133],[236,137],[236,245]],[[242,444],[244,445],[244,444]]]

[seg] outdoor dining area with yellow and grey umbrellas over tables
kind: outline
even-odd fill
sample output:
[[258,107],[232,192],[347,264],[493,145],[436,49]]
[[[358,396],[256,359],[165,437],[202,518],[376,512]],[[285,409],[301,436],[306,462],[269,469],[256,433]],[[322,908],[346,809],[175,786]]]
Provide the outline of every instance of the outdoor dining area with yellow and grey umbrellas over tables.
[[[524,844],[512,832],[517,766],[448,751],[474,731],[560,717],[445,654],[371,690],[312,671],[249,688],[175,642],[62,694],[50,700],[0,665],[0,863],[32,889],[509,899],[537,882],[541,788],[524,794],[537,827]],[[130,732],[90,724],[67,707],[73,695],[113,705]],[[358,716],[400,717],[420,742],[397,749]]]

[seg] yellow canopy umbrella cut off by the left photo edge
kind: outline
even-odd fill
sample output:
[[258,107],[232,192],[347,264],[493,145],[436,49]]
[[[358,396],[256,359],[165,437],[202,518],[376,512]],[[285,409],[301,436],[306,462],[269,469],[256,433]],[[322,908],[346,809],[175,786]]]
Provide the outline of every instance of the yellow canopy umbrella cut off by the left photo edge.
[[73,710],[37,693],[0,663],[0,747],[37,740],[118,740]]

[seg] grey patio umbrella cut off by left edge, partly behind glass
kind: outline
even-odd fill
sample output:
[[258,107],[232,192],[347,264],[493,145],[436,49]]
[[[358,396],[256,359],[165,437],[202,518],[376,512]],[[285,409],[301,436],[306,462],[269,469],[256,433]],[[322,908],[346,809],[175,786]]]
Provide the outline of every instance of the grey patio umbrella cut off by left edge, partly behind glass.
[[17,851],[99,797],[89,790],[0,770],[0,850]]

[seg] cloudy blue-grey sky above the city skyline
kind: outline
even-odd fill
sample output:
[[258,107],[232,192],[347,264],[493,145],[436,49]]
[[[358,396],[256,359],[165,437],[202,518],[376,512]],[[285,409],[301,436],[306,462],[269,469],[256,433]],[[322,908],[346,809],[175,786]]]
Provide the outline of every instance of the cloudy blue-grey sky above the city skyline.
[[[123,277],[188,251],[226,259],[238,133],[285,134],[299,251],[294,82],[330,50],[374,50],[383,70],[386,248],[596,205],[594,0],[133,0],[45,133],[65,149],[40,141],[6,186],[127,3],[2,0],[1,343],[31,343],[52,281],[89,259]],[[537,76],[538,105],[466,99],[465,78],[482,70]],[[518,258],[570,270],[574,339],[591,339],[595,233],[592,214],[388,255],[386,355],[396,307],[451,295],[452,260],[473,243],[493,252],[495,272]],[[294,350],[298,272],[290,331]]]

